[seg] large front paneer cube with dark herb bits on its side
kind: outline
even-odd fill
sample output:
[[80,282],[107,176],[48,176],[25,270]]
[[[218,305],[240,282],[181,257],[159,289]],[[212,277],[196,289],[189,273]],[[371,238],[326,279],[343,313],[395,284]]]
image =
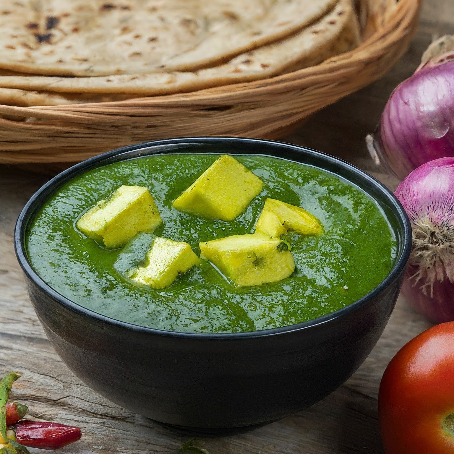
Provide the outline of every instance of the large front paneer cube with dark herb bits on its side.
[[200,258],[240,287],[281,281],[295,270],[289,244],[264,233],[233,235],[199,246]]

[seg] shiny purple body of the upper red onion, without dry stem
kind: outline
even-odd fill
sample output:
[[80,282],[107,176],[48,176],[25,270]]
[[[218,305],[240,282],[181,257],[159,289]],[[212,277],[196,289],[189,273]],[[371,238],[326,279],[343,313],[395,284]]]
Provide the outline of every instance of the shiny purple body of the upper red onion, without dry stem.
[[396,87],[375,133],[380,162],[400,180],[454,156],[454,60],[427,64]]

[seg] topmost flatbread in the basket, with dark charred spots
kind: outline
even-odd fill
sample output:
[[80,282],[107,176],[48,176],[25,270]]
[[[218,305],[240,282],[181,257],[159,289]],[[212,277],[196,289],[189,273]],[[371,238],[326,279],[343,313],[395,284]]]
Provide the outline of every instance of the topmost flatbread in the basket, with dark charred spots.
[[337,0],[1,0],[0,68],[102,76],[192,71],[282,39]]

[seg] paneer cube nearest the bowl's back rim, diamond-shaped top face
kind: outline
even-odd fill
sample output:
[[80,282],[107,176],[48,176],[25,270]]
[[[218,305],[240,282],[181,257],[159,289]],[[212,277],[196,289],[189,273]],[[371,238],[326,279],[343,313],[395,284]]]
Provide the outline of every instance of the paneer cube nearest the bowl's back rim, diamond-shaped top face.
[[262,191],[260,178],[225,154],[172,203],[177,210],[232,221]]

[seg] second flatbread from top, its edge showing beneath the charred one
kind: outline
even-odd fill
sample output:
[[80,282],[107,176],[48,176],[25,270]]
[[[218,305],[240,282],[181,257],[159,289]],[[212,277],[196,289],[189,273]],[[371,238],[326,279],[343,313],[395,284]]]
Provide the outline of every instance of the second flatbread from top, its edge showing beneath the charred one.
[[61,78],[0,76],[0,87],[60,93],[152,96],[189,92],[265,79],[319,64],[355,48],[360,30],[351,0],[340,0],[329,14],[289,38],[238,55],[227,64],[195,72]]

